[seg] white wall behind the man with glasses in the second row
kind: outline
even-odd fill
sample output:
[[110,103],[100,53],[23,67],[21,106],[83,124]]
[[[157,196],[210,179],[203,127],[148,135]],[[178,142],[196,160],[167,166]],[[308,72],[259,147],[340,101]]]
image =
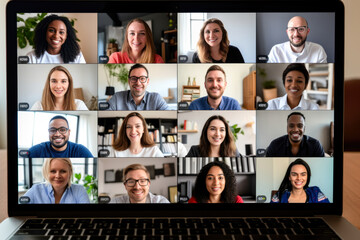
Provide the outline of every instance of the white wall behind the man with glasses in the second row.
[[[126,64],[126,68],[130,69],[133,64]],[[149,85],[147,86],[148,92],[158,92],[162,97],[168,96],[169,88],[177,87],[177,64],[143,64],[149,71]],[[99,86],[98,93],[99,99],[106,99],[105,89],[108,86],[106,72],[103,64],[98,65],[99,73]],[[115,81],[113,83],[115,92],[124,91],[123,85]],[[126,89],[128,90],[129,87]]]

